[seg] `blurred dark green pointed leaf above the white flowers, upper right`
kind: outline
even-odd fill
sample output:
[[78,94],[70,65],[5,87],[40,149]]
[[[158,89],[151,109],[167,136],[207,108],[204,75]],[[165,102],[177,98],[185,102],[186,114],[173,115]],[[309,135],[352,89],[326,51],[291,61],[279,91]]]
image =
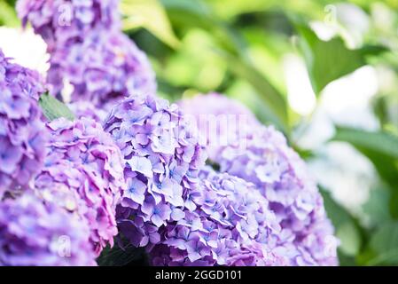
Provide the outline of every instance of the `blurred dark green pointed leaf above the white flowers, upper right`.
[[379,46],[365,46],[362,49],[349,50],[340,37],[333,37],[325,42],[302,24],[297,24],[296,28],[300,34],[300,50],[317,95],[328,83],[363,67],[368,56],[377,55],[386,50]]

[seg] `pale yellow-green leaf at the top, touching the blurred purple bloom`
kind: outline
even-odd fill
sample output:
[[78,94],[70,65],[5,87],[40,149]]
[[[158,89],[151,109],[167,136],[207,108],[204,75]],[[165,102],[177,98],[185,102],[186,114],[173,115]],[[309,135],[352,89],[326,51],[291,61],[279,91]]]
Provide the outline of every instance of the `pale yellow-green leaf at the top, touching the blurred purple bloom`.
[[158,0],[123,0],[121,11],[126,16],[124,29],[145,28],[170,47],[176,48],[180,44]]

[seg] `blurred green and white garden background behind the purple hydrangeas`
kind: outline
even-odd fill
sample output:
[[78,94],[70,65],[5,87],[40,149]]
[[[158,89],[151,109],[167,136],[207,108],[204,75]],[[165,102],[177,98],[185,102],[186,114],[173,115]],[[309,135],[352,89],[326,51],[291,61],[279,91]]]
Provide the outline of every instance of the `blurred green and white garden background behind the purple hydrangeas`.
[[[45,74],[45,44],[0,0],[0,48]],[[398,264],[398,0],[121,0],[160,96],[217,91],[306,160],[341,265]]]

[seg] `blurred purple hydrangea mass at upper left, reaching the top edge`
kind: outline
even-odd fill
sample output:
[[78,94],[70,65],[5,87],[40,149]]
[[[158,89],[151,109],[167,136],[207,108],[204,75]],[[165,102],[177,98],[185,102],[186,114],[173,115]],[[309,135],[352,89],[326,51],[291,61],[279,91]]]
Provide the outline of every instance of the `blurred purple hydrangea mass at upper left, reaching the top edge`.
[[53,95],[72,86],[72,101],[102,106],[129,93],[154,93],[155,75],[144,52],[120,31],[117,0],[20,0],[19,14],[43,36],[51,54]]

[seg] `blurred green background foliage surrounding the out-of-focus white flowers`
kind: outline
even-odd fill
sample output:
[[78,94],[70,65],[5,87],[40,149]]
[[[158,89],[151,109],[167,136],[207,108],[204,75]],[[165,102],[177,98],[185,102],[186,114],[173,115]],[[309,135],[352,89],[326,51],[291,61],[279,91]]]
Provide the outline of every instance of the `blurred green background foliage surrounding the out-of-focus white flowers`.
[[[357,35],[335,14],[341,3],[354,4],[370,19],[359,43],[349,42]],[[18,25],[13,5],[0,2],[0,24]],[[294,133],[313,116],[288,103],[285,55],[304,60],[317,105],[329,83],[357,68],[386,70],[391,83],[372,100],[379,130],[335,125],[332,138],[354,146],[377,170],[363,205],[366,222],[321,190],[341,241],[340,264],[398,264],[398,0],[121,0],[121,11],[125,32],[152,61],[161,96],[174,101],[218,91],[238,99],[261,122],[282,130],[304,158],[316,152],[301,149]],[[320,39],[310,26],[314,21],[334,21],[336,36]]]

